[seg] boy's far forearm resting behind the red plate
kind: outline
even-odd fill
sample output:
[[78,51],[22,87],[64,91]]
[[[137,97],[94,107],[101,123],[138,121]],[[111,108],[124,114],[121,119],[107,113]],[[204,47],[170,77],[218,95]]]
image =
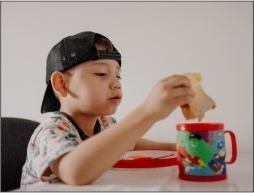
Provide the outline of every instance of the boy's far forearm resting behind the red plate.
[[157,149],[157,150],[176,150],[176,143],[157,142],[148,139],[141,138],[136,143],[135,150],[139,149]]

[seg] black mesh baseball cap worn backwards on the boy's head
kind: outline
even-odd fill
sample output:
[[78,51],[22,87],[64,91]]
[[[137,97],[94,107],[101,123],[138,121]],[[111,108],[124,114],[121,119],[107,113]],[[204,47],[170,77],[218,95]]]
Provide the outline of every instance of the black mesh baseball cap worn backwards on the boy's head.
[[113,59],[121,66],[121,54],[113,44],[112,52],[96,49],[95,40],[99,37],[108,39],[91,31],[81,32],[63,38],[50,50],[46,67],[47,88],[41,105],[41,113],[59,111],[60,109],[60,102],[54,95],[50,82],[53,72],[63,72],[80,63],[98,59]]

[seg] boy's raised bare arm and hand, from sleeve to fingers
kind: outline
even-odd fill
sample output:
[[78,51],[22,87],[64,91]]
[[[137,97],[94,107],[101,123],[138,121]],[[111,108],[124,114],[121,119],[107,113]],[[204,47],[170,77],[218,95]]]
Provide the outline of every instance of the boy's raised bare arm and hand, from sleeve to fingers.
[[51,163],[50,169],[70,185],[89,184],[110,169],[158,120],[192,101],[188,78],[171,76],[159,81],[148,98],[110,129],[88,138]]

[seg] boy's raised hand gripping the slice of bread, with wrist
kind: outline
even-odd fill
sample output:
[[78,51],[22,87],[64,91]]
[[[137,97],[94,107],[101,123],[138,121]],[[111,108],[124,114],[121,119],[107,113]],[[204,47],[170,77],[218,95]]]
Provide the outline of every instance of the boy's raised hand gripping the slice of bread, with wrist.
[[147,116],[158,121],[166,118],[176,107],[190,103],[193,97],[190,80],[174,75],[159,81],[142,106]]

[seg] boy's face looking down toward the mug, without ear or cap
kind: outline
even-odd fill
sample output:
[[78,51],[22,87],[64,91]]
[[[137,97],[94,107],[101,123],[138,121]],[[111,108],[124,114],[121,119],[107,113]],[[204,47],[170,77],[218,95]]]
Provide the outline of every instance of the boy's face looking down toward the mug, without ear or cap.
[[75,66],[68,78],[68,108],[87,115],[114,114],[122,98],[117,61],[100,59]]

